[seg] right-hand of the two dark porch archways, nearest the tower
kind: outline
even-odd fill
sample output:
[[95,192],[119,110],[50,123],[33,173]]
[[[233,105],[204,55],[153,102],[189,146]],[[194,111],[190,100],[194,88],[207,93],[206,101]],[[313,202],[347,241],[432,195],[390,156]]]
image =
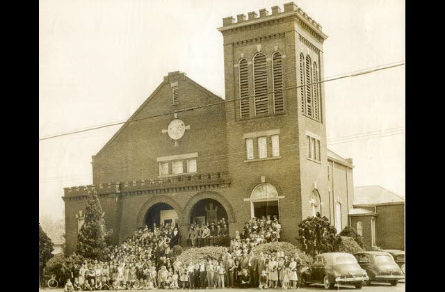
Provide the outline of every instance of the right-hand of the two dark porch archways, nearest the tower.
[[207,223],[207,222],[218,222],[220,220],[225,219],[225,222],[228,222],[227,211],[220,202],[213,199],[202,199],[197,201],[189,215],[188,215],[188,223]]

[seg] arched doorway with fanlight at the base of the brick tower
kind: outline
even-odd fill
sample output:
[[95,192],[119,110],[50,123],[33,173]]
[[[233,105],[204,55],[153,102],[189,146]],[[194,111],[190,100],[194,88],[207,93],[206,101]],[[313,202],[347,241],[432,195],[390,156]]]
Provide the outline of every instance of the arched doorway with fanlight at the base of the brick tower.
[[280,218],[278,191],[275,186],[262,183],[255,186],[250,195],[250,216],[261,218],[267,215]]

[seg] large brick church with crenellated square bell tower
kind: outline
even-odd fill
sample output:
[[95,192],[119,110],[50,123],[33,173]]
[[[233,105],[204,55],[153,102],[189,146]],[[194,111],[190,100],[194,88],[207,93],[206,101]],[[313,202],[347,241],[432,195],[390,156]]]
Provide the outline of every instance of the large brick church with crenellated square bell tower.
[[[113,243],[145,225],[225,217],[229,233],[276,215],[282,241],[320,212],[338,230],[353,208],[353,163],[326,147],[323,42],[293,2],[223,19],[225,99],[170,72],[92,156],[93,184],[65,188],[67,252],[88,192],[96,191]],[[314,83],[315,81],[315,83]],[[305,83],[307,85],[305,85]],[[300,85],[304,86],[300,86]]]

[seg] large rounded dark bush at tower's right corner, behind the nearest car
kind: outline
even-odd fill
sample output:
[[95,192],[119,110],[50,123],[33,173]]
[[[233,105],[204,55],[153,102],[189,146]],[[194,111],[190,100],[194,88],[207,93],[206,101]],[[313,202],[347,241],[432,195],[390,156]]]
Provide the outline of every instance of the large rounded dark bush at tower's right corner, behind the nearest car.
[[329,224],[325,216],[308,217],[298,224],[302,250],[312,257],[323,252],[333,252],[341,243],[337,229]]

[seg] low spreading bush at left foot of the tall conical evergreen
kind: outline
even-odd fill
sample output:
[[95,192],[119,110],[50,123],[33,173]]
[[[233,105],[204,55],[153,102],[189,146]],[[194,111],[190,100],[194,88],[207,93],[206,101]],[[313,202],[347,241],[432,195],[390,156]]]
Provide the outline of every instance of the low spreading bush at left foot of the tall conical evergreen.
[[70,257],[65,257],[63,253],[56,254],[55,257],[49,259],[43,273],[44,275],[56,275],[60,286],[63,286],[67,277],[70,276],[74,264],[80,266],[83,261],[85,261],[85,258],[79,254],[72,254]]

